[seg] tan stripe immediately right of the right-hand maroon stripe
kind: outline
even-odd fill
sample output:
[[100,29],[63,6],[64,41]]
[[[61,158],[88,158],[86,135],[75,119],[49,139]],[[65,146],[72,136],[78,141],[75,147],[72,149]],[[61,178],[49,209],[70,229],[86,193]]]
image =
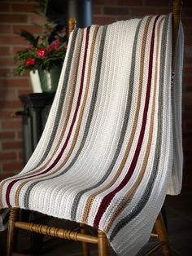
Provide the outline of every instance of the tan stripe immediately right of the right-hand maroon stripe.
[[120,205],[118,206],[118,208],[116,208],[114,214],[112,214],[111,218],[109,219],[109,222],[106,223],[106,227],[105,227],[105,232],[108,232],[111,224],[114,222],[114,220],[116,219],[116,217],[120,214],[120,212],[122,210],[124,210],[124,208],[129,205],[130,201],[133,199],[133,196],[139,186],[139,184],[142,181],[143,175],[145,174],[146,171],[146,165],[149,159],[149,154],[151,152],[151,143],[152,143],[152,136],[153,136],[153,130],[154,130],[154,117],[155,117],[155,98],[156,98],[156,90],[157,90],[157,67],[158,67],[158,55],[159,55],[159,33],[160,33],[160,26],[162,24],[162,21],[164,20],[164,18],[162,18],[159,21],[159,24],[157,26],[157,46],[156,46],[156,60],[155,60],[155,88],[154,88],[154,95],[153,95],[153,101],[152,101],[152,109],[151,109],[151,122],[150,122],[150,131],[149,131],[149,138],[148,138],[148,142],[146,145],[146,154],[145,157],[143,159],[142,162],[142,168],[141,171],[137,177],[136,182],[133,184],[133,187],[129,190],[129,192],[127,192],[124,196],[124,199],[120,202]]

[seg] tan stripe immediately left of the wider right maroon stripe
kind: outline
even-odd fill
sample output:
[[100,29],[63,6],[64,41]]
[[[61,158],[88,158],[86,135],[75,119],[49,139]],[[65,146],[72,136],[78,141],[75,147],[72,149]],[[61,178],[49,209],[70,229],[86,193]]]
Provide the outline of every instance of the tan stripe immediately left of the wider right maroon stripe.
[[141,99],[142,99],[142,80],[143,80],[143,69],[144,69],[144,57],[145,57],[145,48],[146,48],[146,37],[147,37],[147,30],[149,28],[149,24],[150,21],[152,19],[152,16],[150,16],[147,20],[146,20],[146,26],[144,29],[144,33],[143,33],[143,39],[142,39],[142,51],[141,51],[141,61],[140,61],[140,77],[139,77],[139,86],[138,86],[138,95],[137,95],[137,108],[136,108],[136,112],[135,112],[135,116],[134,116],[134,121],[133,121],[133,127],[132,127],[132,131],[131,131],[131,135],[129,137],[129,142],[127,144],[127,148],[124,152],[124,157],[120,163],[120,166],[116,172],[116,175],[113,177],[113,179],[111,179],[111,182],[107,184],[107,186],[105,186],[104,188],[100,189],[98,192],[94,192],[91,196],[89,196],[86,205],[85,205],[85,210],[84,210],[84,214],[83,214],[83,218],[82,218],[82,222],[83,223],[87,223],[88,222],[88,217],[89,217],[89,212],[91,210],[91,207],[93,205],[94,202],[94,198],[95,196],[97,196],[99,193],[104,192],[105,190],[107,190],[108,188],[110,188],[118,179],[118,177],[120,176],[121,171],[124,168],[124,164],[127,160],[127,157],[129,156],[129,152],[133,143],[133,139],[134,139],[134,135],[136,132],[136,128],[137,128],[137,120],[138,120],[138,115],[139,115],[139,110],[141,107]]

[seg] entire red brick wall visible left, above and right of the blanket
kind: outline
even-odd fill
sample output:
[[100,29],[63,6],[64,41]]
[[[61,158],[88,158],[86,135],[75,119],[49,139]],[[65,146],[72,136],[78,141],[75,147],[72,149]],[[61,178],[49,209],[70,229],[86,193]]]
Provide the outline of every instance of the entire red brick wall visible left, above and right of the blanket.
[[[94,24],[109,24],[146,14],[162,14],[171,11],[168,0],[92,0]],[[192,1],[183,0],[182,21],[185,30],[185,65],[183,77],[183,144],[185,152],[184,189],[192,186]],[[15,51],[25,46],[15,33],[21,28],[33,33],[37,16],[32,13],[33,1],[0,1],[0,179],[22,167],[22,132],[20,117],[11,114],[22,108],[19,95],[31,92],[28,76],[13,74]]]

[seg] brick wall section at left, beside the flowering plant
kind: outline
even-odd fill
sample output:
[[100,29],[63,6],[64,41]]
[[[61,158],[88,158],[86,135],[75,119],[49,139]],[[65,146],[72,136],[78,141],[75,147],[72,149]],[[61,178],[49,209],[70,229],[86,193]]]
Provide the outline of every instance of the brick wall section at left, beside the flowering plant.
[[15,174],[23,167],[21,117],[12,114],[22,108],[19,95],[31,93],[28,74],[15,76],[15,52],[27,46],[16,33],[26,29],[40,33],[33,25],[39,20],[33,13],[34,1],[0,1],[0,179]]

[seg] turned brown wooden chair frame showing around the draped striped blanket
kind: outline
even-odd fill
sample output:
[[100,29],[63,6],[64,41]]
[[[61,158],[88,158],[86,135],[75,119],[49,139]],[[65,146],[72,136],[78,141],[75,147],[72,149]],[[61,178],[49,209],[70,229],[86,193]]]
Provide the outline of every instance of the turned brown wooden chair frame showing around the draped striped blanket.
[[[172,79],[174,77],[174,62],[177,48],[177,35],[181,16],[181,0],[172,0]],[[75,19],[69,19],[68,33],[71,33],[76,25]],[[24,229],[31,232],[38,232],[48,236],[55,236],[67,240],[81,241],[83,255],[89,256],[88,244],[98,244],[98,256],[109,256],[109,246],[107,241],[107,236],[104,232],[98,230],[98,236],[89,235],[86,232],[86,225],[80,223],[80,228],[78,231],[67,230],[63,228],[50,227],[47,225],[41,225],[37,223],[25,223],[19,221],[20,209],[12,208],[10,210],[10,218],[8,224],[7,233],[7,256],[13,255],[26,255],[15,253],[16,241],[17,241],[17,231],[18,229]],[[153,254],[159,247],[163,248],[164,255],[171,255],[171,249],[168,242],[168,235],[166,228],[164,226],[164,219],[160,213],[155,221],[156,234],[151,234],[159,238],[159,243],[155,245],[146,255]]]

